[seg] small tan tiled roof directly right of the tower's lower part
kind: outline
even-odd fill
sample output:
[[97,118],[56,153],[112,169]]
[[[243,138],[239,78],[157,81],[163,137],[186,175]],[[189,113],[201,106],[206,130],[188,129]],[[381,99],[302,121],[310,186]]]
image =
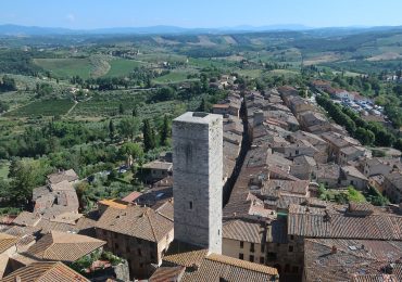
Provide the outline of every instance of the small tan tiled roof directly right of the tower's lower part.
[[262,222],[234,219],[224,222],[222,236],[261,244],[265,239],[265,229]]

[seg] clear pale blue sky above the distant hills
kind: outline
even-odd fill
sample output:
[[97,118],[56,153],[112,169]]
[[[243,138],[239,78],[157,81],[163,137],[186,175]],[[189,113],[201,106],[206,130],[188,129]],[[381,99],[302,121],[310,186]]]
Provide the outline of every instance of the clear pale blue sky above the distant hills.
[[401,0],[1,0],[0,24],[67,28],[176,25],[402,25]]

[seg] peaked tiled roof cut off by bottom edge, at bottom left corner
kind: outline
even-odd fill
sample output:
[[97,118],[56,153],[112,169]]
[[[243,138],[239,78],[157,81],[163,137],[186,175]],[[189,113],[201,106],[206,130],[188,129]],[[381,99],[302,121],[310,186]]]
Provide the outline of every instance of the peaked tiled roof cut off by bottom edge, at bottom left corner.
[[1,280],[2,282],[84,282],[88,281],[81,274],[62,262],[35,262],[20,268]]

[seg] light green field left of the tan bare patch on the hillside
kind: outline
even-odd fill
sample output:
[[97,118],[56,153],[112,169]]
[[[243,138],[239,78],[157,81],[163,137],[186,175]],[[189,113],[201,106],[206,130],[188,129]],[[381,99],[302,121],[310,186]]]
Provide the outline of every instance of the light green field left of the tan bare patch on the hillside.
[[34,63],[60,77],[89,78],[92,69],[89,59],[35,59]]

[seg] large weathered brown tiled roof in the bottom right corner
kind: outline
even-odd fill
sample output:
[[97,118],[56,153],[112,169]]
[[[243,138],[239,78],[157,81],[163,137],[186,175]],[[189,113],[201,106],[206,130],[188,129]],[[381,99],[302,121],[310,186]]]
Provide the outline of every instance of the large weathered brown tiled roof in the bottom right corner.
[[395,268],[393,280],[384,280],[385,269],[402,256],[402,242],[306,239],[304,249],[306,281],[393,282],[401,279]]

